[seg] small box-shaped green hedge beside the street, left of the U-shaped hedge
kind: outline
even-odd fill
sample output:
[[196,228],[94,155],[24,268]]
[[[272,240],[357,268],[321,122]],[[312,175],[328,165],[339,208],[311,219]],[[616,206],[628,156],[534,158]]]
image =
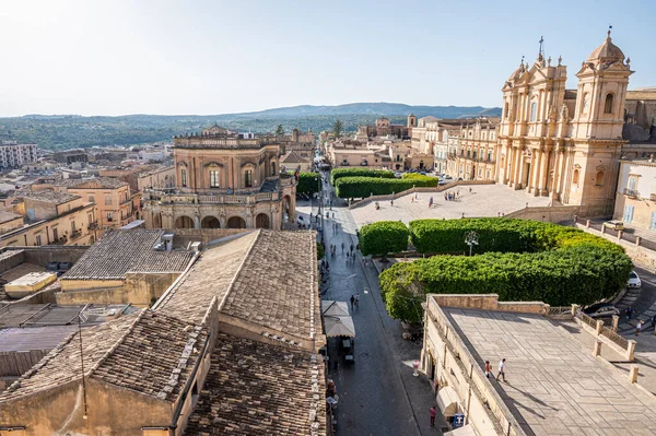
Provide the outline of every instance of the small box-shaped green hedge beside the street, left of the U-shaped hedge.
[[410,232],[400,221],[378,221],[362,227],[359,234],[363,255],[386,256],[408,249]]

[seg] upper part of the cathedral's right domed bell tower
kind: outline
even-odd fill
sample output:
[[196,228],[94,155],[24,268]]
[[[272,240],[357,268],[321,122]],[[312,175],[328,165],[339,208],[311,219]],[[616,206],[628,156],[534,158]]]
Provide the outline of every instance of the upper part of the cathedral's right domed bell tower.
[[622,139],[630,59],[612,44],[610,30],[576,73],[578,87],[573,119],[575,139]]

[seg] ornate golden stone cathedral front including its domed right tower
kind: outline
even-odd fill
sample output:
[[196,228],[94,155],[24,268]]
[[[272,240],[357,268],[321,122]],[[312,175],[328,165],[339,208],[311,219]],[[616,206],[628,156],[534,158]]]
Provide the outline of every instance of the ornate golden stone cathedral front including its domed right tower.
[[586,215],[610,215],[631,74],[610,32],[581,64],[576,90],[565,89],[560,58],[540,50],[531,67],[523,60],[502,90],[496,181],[579,205]]

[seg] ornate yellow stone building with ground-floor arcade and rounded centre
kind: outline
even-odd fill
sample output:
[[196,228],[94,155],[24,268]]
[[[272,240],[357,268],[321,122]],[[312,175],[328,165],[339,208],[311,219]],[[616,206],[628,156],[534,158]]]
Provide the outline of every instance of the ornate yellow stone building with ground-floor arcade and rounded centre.
[[276,228],[295,223],[294,178],[280,173],[277,137],[213,126],[174,138],[174,189],[147,190],[148,228]]

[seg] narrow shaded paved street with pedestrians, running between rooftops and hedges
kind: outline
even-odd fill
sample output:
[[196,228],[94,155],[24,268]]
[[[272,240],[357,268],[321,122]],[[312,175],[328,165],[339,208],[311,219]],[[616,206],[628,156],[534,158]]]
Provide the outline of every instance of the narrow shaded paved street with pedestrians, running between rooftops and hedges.
[[[328,184],[325,189],[329,192]],[[307,223],[309,202],[302,202],[296,209],[302,222]],[[326,219],[324,212],[330,288],[323,298],[349,302],[351,295],[360,292],[360,306],[352,310],[355,362],[348,364],[338,354],[341,339],[329,339],[329,378],[339,394],[337,435],[440,435],[440,419],[435,427],[430,426],[429,409],[435,404],[430,381],[423,375],[412,376],[411,363],[419,360],[421,343],[403,340],[400,322],[387,315],[372,262],[364,266],[360,255],[355,262],[347,261],[347,251],[358,240],[345,204],[333,205],[332,210],[327,207],[326,211],[330,216]],[[312,213],[316,216],[316,201]],[[329,254],[331,244],[337,246],[333,258]]]

